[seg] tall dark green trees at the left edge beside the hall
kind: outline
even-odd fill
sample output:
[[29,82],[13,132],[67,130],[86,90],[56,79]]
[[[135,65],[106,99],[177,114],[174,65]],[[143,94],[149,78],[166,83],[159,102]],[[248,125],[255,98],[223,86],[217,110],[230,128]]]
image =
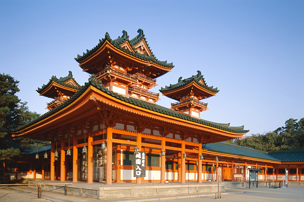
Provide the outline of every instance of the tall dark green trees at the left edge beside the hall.
[[47,142],[26,138],[13,138],[12,130],[40,116],[29,111],[27,102],[22,102],[16,93],[19,92],[19,81],[9,74],[0,74],[0,163],[12,161],[22,155],[22,149],[9,147],[9,143],[18,143],[23,147],[30,144],[44,145]]

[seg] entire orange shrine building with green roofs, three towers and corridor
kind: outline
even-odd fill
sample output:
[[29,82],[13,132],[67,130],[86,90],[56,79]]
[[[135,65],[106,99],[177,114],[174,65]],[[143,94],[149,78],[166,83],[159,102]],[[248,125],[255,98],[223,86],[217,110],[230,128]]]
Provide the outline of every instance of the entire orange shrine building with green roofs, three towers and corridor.
[[[223,141],[243,138],[244,126],[200,118],[202,102],[219,90],[208,86],[200,71],[160,92],[175,100],[157,105],[150,91],[156,79],[174,67],[158,60],[143,30],[129,39],[109,34],[75,60],[91,76],[81,86],[68,76],[51,77],[37,92],[54,99],[50,110],[15,130],[14,136],[50,141],[32,147],[26,158],[5,165],[12,179],[49,178],[73,182],[202,182],[247,180],[248,168],[260,169],[259,180],[304,180],[304,151],[263,152]],[[146,152],[145,177],[133,176],[134,151]]]

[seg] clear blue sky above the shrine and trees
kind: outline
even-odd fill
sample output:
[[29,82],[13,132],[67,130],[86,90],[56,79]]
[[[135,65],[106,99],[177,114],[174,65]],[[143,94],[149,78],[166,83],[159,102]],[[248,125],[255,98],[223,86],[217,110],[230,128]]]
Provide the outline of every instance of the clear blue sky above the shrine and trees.
[[[45,113],[38,87],[73,72],[74,60],[98,44],[139,28],[159,60],[173,62],[158,89],[200,70],[219,93],[201,118],[273,131],[304,117],[304,1],[8,1],[0,2],[0,73],[19,80],[22,101]],[[175,102],[161,96],[165,107]]]

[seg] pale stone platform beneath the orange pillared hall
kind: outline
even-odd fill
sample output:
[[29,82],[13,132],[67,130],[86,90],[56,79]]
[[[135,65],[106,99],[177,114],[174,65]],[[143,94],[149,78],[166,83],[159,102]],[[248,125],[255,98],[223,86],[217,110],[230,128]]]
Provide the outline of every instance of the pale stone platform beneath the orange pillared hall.
[[[30,188],[36,188],[37,184],[41,183],[41,190],[53,191],[64,193],[65,184],[53,184],[52,183],[70,183],[68,181],[31,181],[33,183],[29,185]],[[123,186],[127,185],[127,186]],[[133,186],[132,186],[133,185]],[[207,183],[169,183],[159,184],[154,183],[113,183],[112,185],[104,185],[101,183],[83,183],[76,182],[67,185],[67,194],[89,197],[94,199],[117,199],[117,198],[130,198],[130,197],[152,197],[152,196],[170,196],[177,194],[202,194],[202,193],[216,193],[217,182]],[[224,192],[226,189],[241,188],[241,182],[220,182],[219,191]]]

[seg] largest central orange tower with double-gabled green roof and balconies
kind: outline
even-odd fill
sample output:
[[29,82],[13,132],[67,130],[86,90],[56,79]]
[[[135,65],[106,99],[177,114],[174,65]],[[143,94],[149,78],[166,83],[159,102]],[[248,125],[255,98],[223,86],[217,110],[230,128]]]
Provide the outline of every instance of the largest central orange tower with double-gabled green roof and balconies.
[[149,91],[156,86],[156,78],[166,74],[174,66],[159,61],[151,51],[142,29],[129,39],[126,31],[117,39],[108,33],[92,49],[75,60],[83,71],[96,76],[105,88],[125,97],[133,97],[155,103],[159,93]]

